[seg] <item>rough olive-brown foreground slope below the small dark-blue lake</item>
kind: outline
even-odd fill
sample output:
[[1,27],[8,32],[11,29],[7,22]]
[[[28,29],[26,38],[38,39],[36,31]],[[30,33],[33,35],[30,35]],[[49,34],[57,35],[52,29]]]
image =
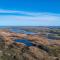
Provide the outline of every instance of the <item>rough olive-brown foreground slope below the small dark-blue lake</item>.
[[[3,45],[4,46],[4,45]],[[50,56],[38,47],[26,47],[23,44],[8,45],[0,50],[0,60],[56,60],[58,57]]]

